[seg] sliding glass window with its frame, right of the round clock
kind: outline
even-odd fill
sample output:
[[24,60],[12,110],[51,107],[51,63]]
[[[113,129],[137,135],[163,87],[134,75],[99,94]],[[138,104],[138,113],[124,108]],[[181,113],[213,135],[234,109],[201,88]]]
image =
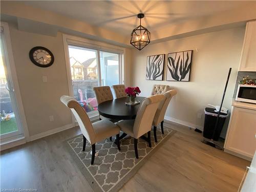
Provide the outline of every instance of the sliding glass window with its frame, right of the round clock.
[[98,111],[93,88],[111,87],[123,82],[124,49],[65,34],[63,42],[67,73],[71,82],[70,95],[80,103],[89,117],[94,117],[98,115]]

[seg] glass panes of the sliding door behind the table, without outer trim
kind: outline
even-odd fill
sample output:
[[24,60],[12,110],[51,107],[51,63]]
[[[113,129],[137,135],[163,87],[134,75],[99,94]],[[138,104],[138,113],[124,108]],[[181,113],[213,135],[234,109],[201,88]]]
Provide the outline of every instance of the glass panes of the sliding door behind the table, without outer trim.
[[97,113],[94,87],[120,83],[120,54],[68,45],[74,98],[89,116]]

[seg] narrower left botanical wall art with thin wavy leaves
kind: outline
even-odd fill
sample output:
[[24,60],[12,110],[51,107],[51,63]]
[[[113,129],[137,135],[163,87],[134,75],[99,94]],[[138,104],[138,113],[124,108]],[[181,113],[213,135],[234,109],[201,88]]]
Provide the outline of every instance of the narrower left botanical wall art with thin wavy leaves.
[[146,58],[146,80],[163,80],[165,54],[151,55]]

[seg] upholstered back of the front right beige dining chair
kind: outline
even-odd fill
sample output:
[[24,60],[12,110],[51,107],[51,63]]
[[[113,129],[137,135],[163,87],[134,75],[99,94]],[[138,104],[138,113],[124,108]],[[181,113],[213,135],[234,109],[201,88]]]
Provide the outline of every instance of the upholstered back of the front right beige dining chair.
[[133,126],[136,139],[151,130],[153,118],[163,99],[163,95],[153,95],[142,101]]

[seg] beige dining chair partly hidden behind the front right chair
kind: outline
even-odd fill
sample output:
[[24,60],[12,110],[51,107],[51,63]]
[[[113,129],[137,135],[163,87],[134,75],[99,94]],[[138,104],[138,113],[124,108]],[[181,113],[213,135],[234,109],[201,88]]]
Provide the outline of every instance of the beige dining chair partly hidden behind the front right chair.
[[170,90],[163,94],[164,99],[160,102],[158,109],[156,111],[154,120],[153,120],[155,142],[157,142],[157,133],[156,132],[157,132],[157,125],[159,123],[161,123],[161,131],[162,131],[162,134],[164,134],[164,131],[163,131],[164,115],[167,110],[167,106],[170,102],[170,99],[172,99],[172,97],[176,94],[177,94],[176,90]]

